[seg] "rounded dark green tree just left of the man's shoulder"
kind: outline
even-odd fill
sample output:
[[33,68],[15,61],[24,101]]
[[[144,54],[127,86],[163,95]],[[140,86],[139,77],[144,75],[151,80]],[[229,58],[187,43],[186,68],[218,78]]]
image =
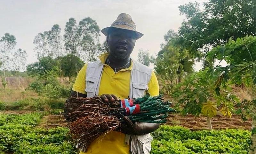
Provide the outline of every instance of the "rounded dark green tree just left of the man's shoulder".
[[58,59],[61,61],[60,65],[64,76],[67,76],[69,80],[71,80],[73,76],[76,76],[79,70],[84,66],[84,62],[78,56],[74,56],[73,54],[67,54]]

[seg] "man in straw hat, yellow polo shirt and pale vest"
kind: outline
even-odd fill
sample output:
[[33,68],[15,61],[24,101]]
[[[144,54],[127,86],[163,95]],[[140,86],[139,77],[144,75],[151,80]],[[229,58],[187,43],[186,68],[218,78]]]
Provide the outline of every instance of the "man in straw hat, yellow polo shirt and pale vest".
[[[85,64],[79,71],[71,96],[100,96],[104,101],[136,99],[148,90],[151,96],[159,95],[158,81],[149,67],[132,60],[130,55],[137,39],[143,36],[136,31],[132,17],[121,13],[110,27],[101,31],[107,37],[109,52],[100,60]],[[149,153],[155,123],[132,123],[128,117],[120,132],[113,131],[92,142],[81,154]]]

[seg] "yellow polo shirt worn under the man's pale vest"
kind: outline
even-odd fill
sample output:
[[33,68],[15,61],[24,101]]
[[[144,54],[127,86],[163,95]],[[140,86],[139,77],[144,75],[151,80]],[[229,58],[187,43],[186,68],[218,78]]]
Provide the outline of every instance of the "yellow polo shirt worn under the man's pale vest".
[[[129,68],[122,69],[116,74],[114,70],[105,64],[109,53],[104,53],[99,56],[101,62],[104,64],[102,77],[100,81],[99,95],[102,94],[115,94],[119,99],[128,98],[130,92],[130,77],[132,63]],[[72,88],[73,91],[86,94],[84,91],[85,76],[87,64],[79,71],[75,84]],[[159,86],[156,74],[152,72],[151,79],[148,83],[148,92],[151,96],[159,95]],[[125,134],[117,131],[112,131],[105,136],[100,136],[93,141],[86,152],[80,154],[129,154],[130,147],[125,144]]]

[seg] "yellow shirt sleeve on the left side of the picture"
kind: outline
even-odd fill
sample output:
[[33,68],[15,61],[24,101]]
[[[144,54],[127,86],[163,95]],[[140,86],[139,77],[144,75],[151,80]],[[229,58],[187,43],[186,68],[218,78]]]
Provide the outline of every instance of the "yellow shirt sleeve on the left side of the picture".
[[86,69],[87,69],[87,64],[85,64],[81,70],[79,71],[79,73],[77,74],[76,77],[76,81],[73,85],[72,90],[76,91],[78,93],[82,93],[82,94],[86,94],[86,92],[84,91],[85,89],[85,76],[86,76]]

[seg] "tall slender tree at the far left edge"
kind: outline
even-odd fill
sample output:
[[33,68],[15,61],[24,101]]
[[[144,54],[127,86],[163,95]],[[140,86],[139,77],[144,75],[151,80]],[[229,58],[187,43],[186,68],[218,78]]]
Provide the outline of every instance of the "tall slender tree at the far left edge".
[[6,81],[5,70],[10,65],[11,51],[15,47],[15,45],[16,45],[16,38],[14,35],[5,33],[4,36],[0,39],[0,49],[1,49],[0,60],[2,62],[2,69],[4,71],[4,81]]

